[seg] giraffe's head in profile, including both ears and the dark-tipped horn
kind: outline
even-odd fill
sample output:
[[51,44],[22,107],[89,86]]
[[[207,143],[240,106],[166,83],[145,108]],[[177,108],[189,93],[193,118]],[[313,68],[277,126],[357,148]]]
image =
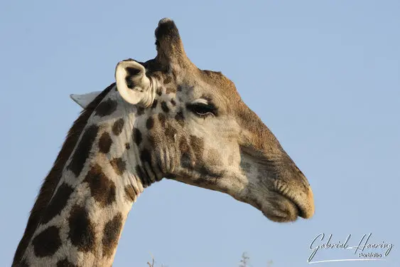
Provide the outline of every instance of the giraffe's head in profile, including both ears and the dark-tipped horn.
[[[166,177],[229,194],[272,221],[313,216],[306,177],[234,83],[197,68],[170,19],[158,23],[156,48],[156,58],[121,61],[115,72],[137,148],[128,158],[144,187]],[[86,105],[95,95],[73,98]]]

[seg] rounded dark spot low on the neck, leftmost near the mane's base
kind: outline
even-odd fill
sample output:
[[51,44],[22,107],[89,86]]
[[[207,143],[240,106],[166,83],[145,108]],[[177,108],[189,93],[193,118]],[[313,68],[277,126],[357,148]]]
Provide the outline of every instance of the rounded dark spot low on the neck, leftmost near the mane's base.
[[33,239],[32,245],[35,256],[53,256],[61,246],[60,230],[55,226],[48,227]]

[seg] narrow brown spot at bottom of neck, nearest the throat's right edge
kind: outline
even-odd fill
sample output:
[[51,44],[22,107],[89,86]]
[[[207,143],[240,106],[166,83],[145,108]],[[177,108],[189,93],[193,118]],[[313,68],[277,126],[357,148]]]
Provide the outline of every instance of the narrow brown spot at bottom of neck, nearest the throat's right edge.
[[122,214],[119,213],[108,221],[103,229],[103,256],[112,256],[117,248],[119,235],[122,229]]

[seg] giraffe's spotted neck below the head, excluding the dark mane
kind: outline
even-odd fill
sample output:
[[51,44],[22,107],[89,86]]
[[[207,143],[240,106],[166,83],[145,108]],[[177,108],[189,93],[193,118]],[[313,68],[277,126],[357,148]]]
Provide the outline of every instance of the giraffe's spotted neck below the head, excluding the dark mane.
[[27,242],[24,264],[111,266],[133,202],[162,178],[141,163],[135,114],[117,97],[110,90],[88,118]]

